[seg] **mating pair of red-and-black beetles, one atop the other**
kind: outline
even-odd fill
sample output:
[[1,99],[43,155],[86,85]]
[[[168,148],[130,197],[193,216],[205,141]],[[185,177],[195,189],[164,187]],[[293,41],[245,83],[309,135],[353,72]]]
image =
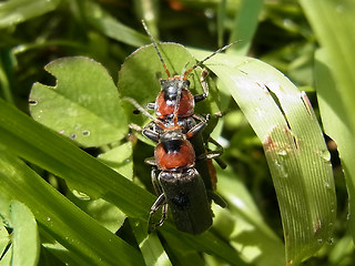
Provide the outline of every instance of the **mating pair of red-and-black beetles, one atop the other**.
[[[149,109],[154,109],[156,119],[134,100],[126,99],[152,120],[142,133],[158,143],[154,157],[145,160],[152,165],[152,183],[159,195],[151,207],[149,232],[164,223],[169,206],[178,229],[190,234],[201,234],[212,225],[212,200],[222,207],[225,206],[225,202],[213,192],[215,177],[211,171],[213,167],[211,160],[221,155],[221,151],[211,152],[206,149],[201,132],[206,126],[209,116],[194,114],[195,102],[209,95],[205,82],[207,72],[203,71],[201,76],[204,93],[195,96],[189,90],[190,81],[186,76],[195,68],[233,43],[199,61],[187,71],[183,71],[181,75],[171,76],[144,22],[143,25],[169,76],[168,80],[161,80],[161,92],[155,102],[148,105]],[[199,173],[200,170],[204,173],[202,176]],[[154,224],[153,215],[161,207],[162,217],[159,223]]]

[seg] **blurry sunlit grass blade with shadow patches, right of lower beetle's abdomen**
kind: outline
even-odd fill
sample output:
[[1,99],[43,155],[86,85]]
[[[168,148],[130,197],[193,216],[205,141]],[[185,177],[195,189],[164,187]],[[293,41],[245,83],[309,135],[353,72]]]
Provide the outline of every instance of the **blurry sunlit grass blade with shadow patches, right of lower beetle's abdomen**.
[[[219,194],[226,200],[229,212],[216,209],[214,228],[220,235],[226,235],[231,245],[241,252],[248,263],[257,265],[283,265],[284,244],[270,228],[250,191],[229,168],[219,171]],[[222,213],[221,215],[220,212]]]

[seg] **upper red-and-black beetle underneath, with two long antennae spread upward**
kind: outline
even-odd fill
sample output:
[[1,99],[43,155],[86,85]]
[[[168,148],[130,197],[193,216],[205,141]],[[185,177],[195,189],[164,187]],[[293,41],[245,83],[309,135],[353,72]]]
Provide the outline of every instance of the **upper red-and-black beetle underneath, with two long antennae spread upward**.
[[[239,41],[232,42],[216,50],[205,59],[195,63],[189,70],[183,70],[181,75],[172,76],[164,62],[164,59],[161,55],[161,52],[158,48],[158,44],[153,35],[151,34],[144,21],[142,21],[142,24],[148,35],[151,38],[152,44],[163,65],[164,72],[168,75],[168,79],[160,80],[161,91],[158,94],[155,102],[149,103],[146,108],[154,110],[156,117],[161,120],[165,125],[169,123],[172,123],[174,110],[178,109],[176,112],[178,112],[179,124],[183,129],[184,133],[186,133],[189,130],[194,127],[197,123],[206,123],[207,122],[206,117],[194,113],[194,106],[196,102],[200,102],[206,99],[209,95],[209,85],[207,85],[207,82],[205,81],[205,78],[209,72],[205,69],[202,71],[200,81],[204,92],[197,95],[193,95],[190,92],[190,81],[187,80],[187,75],[194,69],[196,69],[197,66],[201,66],[205,61],[214,57],[216,53],[220,53],[226,50],[227,48],[230,48],[231,45],[235,44]],[[160,126],[156,123],[151,122],[142,131],[143,135],[148,136],[153,141],[156,141],[154,140],[154,137],[152,137],[148,133],[148,129],[150,132],[151,131],[161,132],[162,130],[160,129]],[[226,165],[223,163],[223,161],[219,158],[219,156],[223,153],[223,149],[216,141],[212,140],[211,137],[209,137],[209,140],[205,141],[202,137],[202,134],[195,134],[190,141],[193,144],[196,153],[196,157],[199,158],[196,161],[196,168],[201,173],[206,188],[213,191],[216,188],[215,187],[216,176],[215,174],[213,174],[215,170],[211,160],[214,158],[222,168],[225,168]],[[212,152],[209,149],[206,149],[207,142],[213,143],[217,147],[217,150]],[[204,160],[201,160],[201,158],[204,158]]]

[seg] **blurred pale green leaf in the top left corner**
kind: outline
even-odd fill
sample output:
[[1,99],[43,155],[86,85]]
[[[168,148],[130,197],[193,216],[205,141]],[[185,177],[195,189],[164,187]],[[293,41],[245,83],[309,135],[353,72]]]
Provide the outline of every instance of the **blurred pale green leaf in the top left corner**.
[[18,24],[57,8],[60,0],[11,0],[0,3],[0,28]]

